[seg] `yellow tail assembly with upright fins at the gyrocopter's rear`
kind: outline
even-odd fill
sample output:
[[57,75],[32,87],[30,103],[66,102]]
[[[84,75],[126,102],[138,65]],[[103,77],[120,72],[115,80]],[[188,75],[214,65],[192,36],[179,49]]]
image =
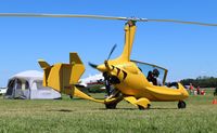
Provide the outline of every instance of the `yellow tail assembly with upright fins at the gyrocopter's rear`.
[[59,63],[50,66],[44,61],[39,61],[39,65],[44,70],[43,85],[74,95],[75,84],[84,74],[85,66],[77,53],[71,53],[69,62],[69,64]]

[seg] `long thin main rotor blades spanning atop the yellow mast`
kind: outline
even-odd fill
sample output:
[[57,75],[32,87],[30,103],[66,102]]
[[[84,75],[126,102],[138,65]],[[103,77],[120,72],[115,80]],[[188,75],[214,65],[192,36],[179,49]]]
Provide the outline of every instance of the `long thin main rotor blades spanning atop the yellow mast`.
[[192,24],[201,26],[217,26],[217,24],[208,24],[201,22],[188,22],[179,19],[149,19],[149,18],[137,18],[137,17],[115,17],[115,16],[103,16],[103,15],[79,15],[79,14],[36,14],[36,13],[0,13],[0,16],[4,17],[80,17],[80,18],[98,18],[98,19],[117,19],[117,21],[136,21],[136,22],[165,22],[165,23],[179,23],[179,24]]

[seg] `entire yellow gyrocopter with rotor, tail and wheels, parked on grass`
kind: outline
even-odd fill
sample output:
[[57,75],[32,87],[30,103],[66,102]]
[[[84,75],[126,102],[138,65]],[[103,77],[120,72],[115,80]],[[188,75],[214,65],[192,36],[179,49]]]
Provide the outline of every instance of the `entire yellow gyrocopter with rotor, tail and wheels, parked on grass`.
[[[79,91],[78,80],[85,72],[85,66],[77,53],[69,54],[69,64],[59,63],[51,66],[43,59],[38,61],[41,68],[44,70],[44,87],[51,87],[54,90],[71,96],[77,96],[105,104],[105,107],[108,109],[116,108],[116,105],[123,99],[138,106],[139,109],[150,108],[151,102],[178,102],[178,108],[186,108],[183,99],[188,98],[189,94],[180,83],[174,83],[174,87],[176,88],[167,87],[165,84],[167,69],[153,64],[130,59],[137,22],[170,22],[202,26],[217,26],[217,24],[176,19],[127,18],[99,15],[1,13],[0,16],[86,17],[126,21],[125,46],[120,56],[115,59],[110,59],[111,54],[116,48],[116,45],[114,45],[108,58],[105,59],[102,65],[89,63],[91,67],[98,69],[104,76],[105,88],[108,95],[105,99],[95,99]],[[157,77],[162,79],[162,84],[157,84]]]

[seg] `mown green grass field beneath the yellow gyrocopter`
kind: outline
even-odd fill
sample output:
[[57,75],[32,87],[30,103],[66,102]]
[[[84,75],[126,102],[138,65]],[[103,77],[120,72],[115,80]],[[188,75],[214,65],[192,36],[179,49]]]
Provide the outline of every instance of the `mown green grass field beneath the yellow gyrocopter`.
[[[102,95],[94,95],[101,97]],[[190,96],[186,109],[177,103],[152,103],[151,109],[122,102],[117,109],[64,98],[60,101],[0,99],[1,133],[217,133],[217,105],[212,91]]]

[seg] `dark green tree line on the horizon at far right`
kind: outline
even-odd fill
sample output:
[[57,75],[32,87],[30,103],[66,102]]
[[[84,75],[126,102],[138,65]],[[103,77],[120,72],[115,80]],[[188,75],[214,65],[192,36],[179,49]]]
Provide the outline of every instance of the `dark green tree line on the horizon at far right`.
[[217,78],[215,77],[197,77],[196,79],[183,79],[180,81],[183,85],[189,85],[192,83],[194,87],[201,88],[216,88]]

